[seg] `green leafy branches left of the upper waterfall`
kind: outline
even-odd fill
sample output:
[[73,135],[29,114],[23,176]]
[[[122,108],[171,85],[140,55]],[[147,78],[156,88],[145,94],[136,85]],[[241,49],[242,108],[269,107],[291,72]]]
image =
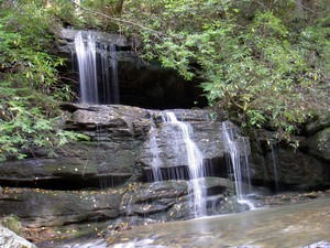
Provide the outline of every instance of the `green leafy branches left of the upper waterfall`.
[[53,37],[38,4],[2,4],[0,11],[0,161],[54,152],[80,134],[56,129],[57,101],[69,94],[58,82],[63,60],[46,52]]

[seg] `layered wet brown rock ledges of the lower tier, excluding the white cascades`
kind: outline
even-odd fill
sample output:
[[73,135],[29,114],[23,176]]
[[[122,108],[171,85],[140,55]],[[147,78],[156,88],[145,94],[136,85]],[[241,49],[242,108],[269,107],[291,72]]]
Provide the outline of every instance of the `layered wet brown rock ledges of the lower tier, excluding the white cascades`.
[[[92,222],[112,222],[113,228],[124,228],[122,223],[194,217],[186,141],[176,134],[178,126],[166,121],[166,111],[122,105],[63,104],[62,108],[63,127],[89,140],[67,144],[57,151],[57,157],[36,151],[35,158],[1,163],[2,215],[14,214],[25,227],[35,228]],[[194,129],[191,140],[204,155],[207,214],[246,209],[234,197],[221,120],[211,121],[207,110],[172,111]],[[329,186],[329,128],[315,130],[318,131],[305,139],[306,144],[297,151],[285,145],[272,150],[252,142],[252,153],[248,150],[246,154],[253,184],[274,191],[277,184],[283,186],[280,190]],[[239,153],[242,151],[239,148]],[[163,182],[153,182],[155,158]],[[175,174],[182,175],[179,180]]]

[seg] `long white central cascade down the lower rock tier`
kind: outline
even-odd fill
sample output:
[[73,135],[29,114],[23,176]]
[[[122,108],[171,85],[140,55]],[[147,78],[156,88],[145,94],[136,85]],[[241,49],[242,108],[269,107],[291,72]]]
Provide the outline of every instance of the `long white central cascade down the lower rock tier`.
[[205,173],[202,168],[202,154],[193,139],[193,128],[188,123],[178,121],[174,112],[165,112],[165,121],[179,129],[177,136],[182,136],[187,151],[187,161],[189,169],[188,190],[193,195],[193,206],[195,217],[206,216],[206,186]]

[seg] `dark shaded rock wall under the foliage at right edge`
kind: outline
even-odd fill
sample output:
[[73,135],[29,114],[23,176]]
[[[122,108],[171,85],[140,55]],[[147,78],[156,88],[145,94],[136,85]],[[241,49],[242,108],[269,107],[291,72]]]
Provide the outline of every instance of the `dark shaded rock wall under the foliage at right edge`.
[[[264,139],[252,143],[252,166],[255,182],[275,191],[318,190],[330,186],[330,121],[329,111],[306,125],[297,137],[298,149],[278,143],[267,145]],[[277,179],[275,179],[275,175]]]

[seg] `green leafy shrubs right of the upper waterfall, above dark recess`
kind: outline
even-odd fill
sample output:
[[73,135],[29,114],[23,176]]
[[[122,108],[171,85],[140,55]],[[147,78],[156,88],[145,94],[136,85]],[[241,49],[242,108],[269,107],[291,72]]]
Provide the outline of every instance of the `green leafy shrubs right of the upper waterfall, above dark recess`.
[[329,8],[320,2],[301,15],[294,1],[135,0],[123,17],[139,25],[122,30],[139,34],[145,58],[204,80],[211,106],[290,142],[329,108]]

